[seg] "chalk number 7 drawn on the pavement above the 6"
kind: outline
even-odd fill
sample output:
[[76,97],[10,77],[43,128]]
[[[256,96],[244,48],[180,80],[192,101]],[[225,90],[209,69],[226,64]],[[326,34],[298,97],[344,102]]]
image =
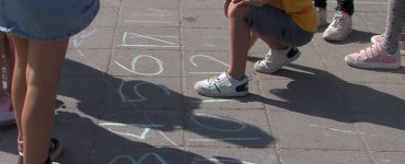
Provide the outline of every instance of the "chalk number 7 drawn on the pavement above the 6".
[[[163,38],[174,38],[176,36],[164,36],[164,35],[140,35],[140,34],[136,34],[136,33],[129,33],[129,32],[125,32],[124,33],[124,36],[123,36],[123,45],[120,46],[125,46],[125,47],[166,47],[166,48],[175,48],[175,47],[180,47],[178,45],[176,45],[176,43],[173,43],[173,42],[169,42],[169,40],[164,40],[164,39],[160,39],[160,38],[157,38],[157,37],[163,37]],[[128,44],[128,42],[130,39],[147,39],[149,42],[153,42],[154,44]],[[178,38],[178,37],[176,37]]]

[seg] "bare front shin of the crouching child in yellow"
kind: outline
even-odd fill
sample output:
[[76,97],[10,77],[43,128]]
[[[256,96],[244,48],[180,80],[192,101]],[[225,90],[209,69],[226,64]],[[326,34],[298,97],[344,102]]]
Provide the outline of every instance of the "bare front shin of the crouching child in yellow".
[[247,51],[251,46],[251,32],[246,22],[250,12],[248,5],[236,7],[231,2],[228,9],[228,22],[230,34],[231,65],[228,74],[234,79],[245,75]]

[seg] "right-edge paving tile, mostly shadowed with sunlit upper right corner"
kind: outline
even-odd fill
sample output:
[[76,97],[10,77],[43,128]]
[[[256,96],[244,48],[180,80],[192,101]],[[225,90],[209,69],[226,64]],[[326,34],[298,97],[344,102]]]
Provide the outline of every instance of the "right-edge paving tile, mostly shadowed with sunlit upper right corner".
[[352,112],[405,113],[405,92],[401,90],[405,84],[344,83],[338,87]]

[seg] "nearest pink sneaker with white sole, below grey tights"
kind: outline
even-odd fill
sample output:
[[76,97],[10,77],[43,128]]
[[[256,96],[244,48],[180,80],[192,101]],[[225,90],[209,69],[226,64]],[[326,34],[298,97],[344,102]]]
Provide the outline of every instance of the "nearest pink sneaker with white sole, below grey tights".
[[394,55],[389,55],[380,44],[374,44],[358,52],[347,55],[345,61],[351,67],[361,69],[397,69],[401,67],[401,55],[400,50]]

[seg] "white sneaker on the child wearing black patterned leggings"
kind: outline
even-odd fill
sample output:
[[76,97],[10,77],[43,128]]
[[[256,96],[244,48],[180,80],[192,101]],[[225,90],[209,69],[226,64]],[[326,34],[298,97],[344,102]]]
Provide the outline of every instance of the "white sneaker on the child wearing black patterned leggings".
[[351,16],[344,11],[338,11],[322,37],[325,40],[344,40],[350,33]]

